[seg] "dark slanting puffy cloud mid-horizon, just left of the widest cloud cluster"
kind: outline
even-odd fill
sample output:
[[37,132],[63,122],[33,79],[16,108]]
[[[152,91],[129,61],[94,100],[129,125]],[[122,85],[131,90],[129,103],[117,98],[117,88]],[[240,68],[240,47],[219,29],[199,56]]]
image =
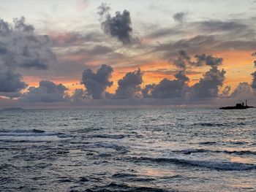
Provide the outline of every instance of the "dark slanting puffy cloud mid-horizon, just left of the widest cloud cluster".
[[118,88],[116,90],[116,99],[127,99],[138,97],[140,85],[143,82],[143,73],[138,69],[135,72],[128,72],[125,76],[118,80]]

